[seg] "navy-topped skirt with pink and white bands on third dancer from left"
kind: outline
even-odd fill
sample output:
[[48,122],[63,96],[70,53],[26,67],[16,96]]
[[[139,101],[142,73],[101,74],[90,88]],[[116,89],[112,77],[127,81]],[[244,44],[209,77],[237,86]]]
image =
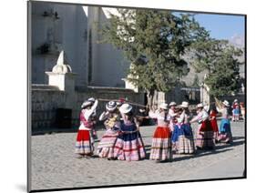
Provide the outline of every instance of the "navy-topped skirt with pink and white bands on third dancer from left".
[[118,135],[114,146],[114,157],[118,160],[138,161],[146,157],[145,147],[138,131]]

